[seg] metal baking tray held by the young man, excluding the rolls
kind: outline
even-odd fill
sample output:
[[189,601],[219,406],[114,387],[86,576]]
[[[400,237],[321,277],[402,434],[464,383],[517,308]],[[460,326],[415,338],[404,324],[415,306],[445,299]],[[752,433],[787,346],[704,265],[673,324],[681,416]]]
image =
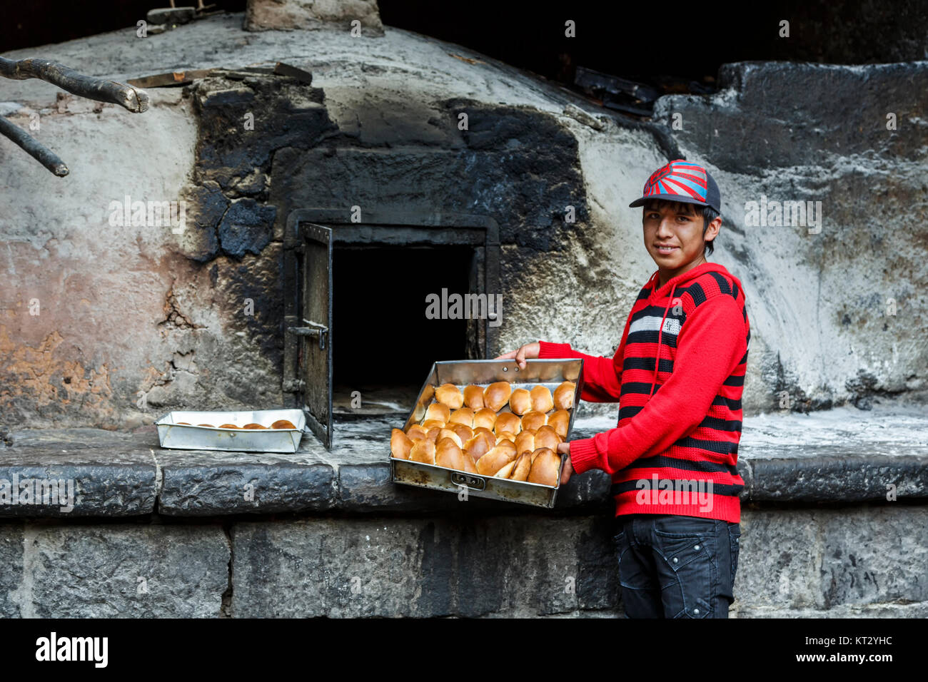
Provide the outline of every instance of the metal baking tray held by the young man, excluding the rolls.
[[[541,383],[548,386],[553,393],[562,381],[574,381],[574,406],[571,408],[571,419],[567,425],[567,438],[570,440],[571,431],[574,430],[574,415],[580,403],[580,393],[583,391],[583,359],[582,358],[542,358],[526,360],[524,369],[520,369],[515,360],[450,360],[436,362],[432,365],[419,397],[406,418],[402,430],[422,421],[426,407],[433,401],[435,389],[443,383],[453,383],[463,390],[468,384],[486,387],[494,381],[509,381],[512,390],[523,388],[531,390]],[[500,412],[511,412],[509,405],[505,405]],[[542,485],[541,483],[528,483],[527,481],[509,481],[497,479],[493,476],[481,476],[475,473],[445,469],[434,464],[413,462],[408,459],[390,457],[391,479],[393,483],[416,485],[432,490],[445,490],[459,493],[463,488],[468,495],[475,497],[488,497],[490,499],[517,502],[533,507],[553,508],[561,487],[561,473],[564,470],[564,457],[561,456],[561,469],[558,470],[558,484]]]

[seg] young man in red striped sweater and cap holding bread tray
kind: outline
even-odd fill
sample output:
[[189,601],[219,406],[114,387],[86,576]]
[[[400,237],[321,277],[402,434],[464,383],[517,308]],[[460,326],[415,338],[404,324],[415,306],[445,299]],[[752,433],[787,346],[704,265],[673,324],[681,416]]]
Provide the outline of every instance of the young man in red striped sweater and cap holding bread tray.
[[712,176],[671,161],[648,179],[644,245],[657,271],[613,357],[537,341],[500,355],[582,357],[581,399],[619,402],[618,427],[562,443],[571,472],[612,475],[619,582],[630,618],[727,618],[744,486],[735,469],[751,330],[741,282],[710,264],[722,219]]

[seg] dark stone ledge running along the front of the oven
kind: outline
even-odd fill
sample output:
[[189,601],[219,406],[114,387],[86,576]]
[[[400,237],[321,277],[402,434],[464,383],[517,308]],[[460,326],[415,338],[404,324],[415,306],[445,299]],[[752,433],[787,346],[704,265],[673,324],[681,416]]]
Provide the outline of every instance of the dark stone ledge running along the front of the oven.
[[[577,437],[584,437],[579,431]],[[306,442],[311,443],[307,444]],[[0,447],[0,485],[15,479],[71,482],[73,509],[18,499],[0,504],[0,517],[126,517],[158,511],[202,517],[279,512],[449,512],[457,495],[396,485],[380,444],[356,441],[331,453],[303,438],[293,455],[164,450],[151,427],[131,433],[95,429],[14,431]],[[904,454],[903,454],[904,453]],[[738,470],[741,501],[794,503],[884,500],[887,485],[903,499],[928,498],[928,447],[870,444],[848,452],[840,445],[752,448]],[[7,483],[3,483],[6,480]],[[609,476],[574,476],[556,510],[607,511]],[[28,486],[27,486],[28,487]],[[34,492],[36,486],[32,484]],[[7,488],[9,492],[10,488]],[[157,502],[157,505],[156,505]],[[525,513],[515,503],[471,497],[469,511]],[[538,513],[550,513],[538,509]],[[557,513],[557,512],[555,512]]]

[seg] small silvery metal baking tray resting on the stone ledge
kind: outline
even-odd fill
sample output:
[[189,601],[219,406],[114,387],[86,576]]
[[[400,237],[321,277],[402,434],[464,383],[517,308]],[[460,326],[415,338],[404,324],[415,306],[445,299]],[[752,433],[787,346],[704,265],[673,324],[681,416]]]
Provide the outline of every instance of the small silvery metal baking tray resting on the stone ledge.
[[[263,424],[289,419],[296,429],[219,429],[220,424]],[[178,424],[189,421],[192,426]],[[214,428],[196,424],[215,424]],[[169,412],[155,422],[161,447],[177,450],[231,450],[234,452],[296,452],[306,416],[301,409],[255,410],[238,412]]]

